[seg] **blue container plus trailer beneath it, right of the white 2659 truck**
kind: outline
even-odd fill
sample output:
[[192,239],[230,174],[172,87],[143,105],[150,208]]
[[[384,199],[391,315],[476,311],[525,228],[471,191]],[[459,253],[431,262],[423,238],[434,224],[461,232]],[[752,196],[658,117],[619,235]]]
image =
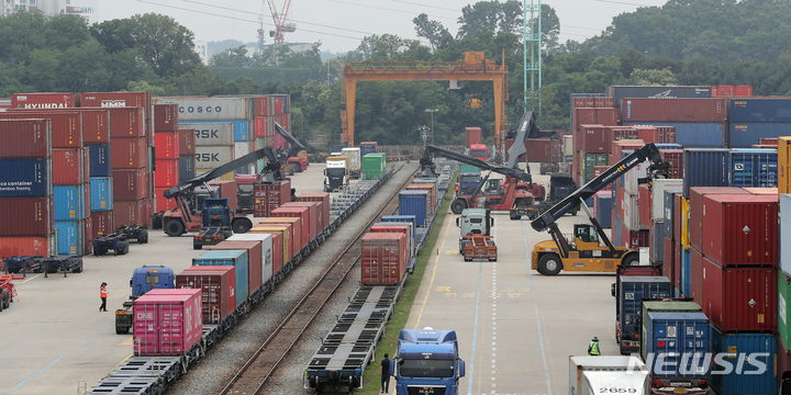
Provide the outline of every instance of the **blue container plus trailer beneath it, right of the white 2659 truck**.
[[651,394],[709,394],[711,338],[703,313],[647,312],[642,357],[650,368]]

